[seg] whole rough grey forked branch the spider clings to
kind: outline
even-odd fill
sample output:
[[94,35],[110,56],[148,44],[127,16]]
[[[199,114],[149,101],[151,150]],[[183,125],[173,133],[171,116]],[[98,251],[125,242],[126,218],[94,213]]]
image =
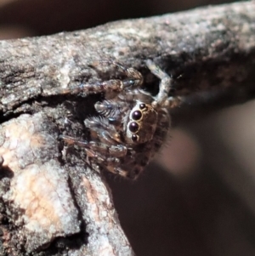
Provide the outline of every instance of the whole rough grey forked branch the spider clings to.
[[133,255],[101,174],[58,139],[66,129],[86,138],[82,121],[101,95],[54,88],[115,77],[90,65],[111,59],[141,71],[153,93],[158,81],[144,65],[151,59],[175,80],[178,118],[193,106],[252,99],[254,25],[255,3],[247,2],[0,42],[0,252]]

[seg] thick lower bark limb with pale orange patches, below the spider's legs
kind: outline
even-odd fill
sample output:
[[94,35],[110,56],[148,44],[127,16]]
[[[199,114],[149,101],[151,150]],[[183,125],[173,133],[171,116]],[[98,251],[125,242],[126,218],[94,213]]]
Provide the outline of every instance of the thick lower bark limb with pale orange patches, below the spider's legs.
[[53,244],[53,250],[75,255],[133,255],[104,179],[68,154],[74,164],[66,172],[58,137],[41,112],[0,127],[0,196],[8,214],[4,251],[23,255],[20,247],[34,253]]

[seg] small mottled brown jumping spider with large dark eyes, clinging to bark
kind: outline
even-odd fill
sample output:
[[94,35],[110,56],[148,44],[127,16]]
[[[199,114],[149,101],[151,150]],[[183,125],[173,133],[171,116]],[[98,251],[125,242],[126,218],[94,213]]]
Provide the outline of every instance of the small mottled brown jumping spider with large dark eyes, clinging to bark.
[[132,67],[110,60],[95,61],[93,65],[113,65],[125,79],[114,79],[94,84],[82,84],[62,89],[62,94],[104,93],[105,100],[94,107],[99,117],[85,119],[91,140],[81,140],[66,135],[67,144],[82,146],[87,162],[94,168],[103,168],[113,174],[136,179],[159,151],[170,127],[167,112],[172,79],[151,60],[146,61],[150,71],[161,79],[159,92],[154,97],[141,89],[141,73]]

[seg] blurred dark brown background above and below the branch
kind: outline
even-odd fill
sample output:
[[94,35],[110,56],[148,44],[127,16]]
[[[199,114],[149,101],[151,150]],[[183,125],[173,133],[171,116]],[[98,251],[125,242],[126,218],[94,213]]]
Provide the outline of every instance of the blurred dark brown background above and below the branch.
[[[75,31],[210,0],[0,0],[0,38]],[[176,122],[135,181],[107,175],[137,256],[255,255],[255,101]],[[195,115],[195,113],[194,113]]]

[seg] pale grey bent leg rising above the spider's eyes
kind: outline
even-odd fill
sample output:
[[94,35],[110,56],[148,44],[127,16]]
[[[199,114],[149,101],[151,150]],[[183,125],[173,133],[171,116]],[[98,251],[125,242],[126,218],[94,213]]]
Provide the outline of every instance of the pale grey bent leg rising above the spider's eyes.
[[173,79],[160,69],[152,60],[146,60],[146,65],[150,71],[158,78],[161,79],[159,93],[156,95],[154,105],[165,105],[168,97],[168,93],[173,88]]

